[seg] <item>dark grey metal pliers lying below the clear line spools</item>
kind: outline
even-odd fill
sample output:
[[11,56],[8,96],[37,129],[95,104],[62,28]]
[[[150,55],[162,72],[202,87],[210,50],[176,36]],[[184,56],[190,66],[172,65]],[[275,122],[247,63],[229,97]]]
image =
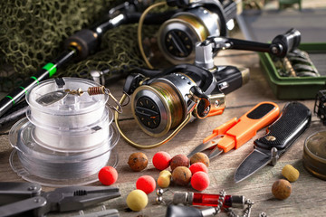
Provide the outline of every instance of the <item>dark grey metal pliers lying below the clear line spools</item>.
[[0,183],[0,217],[77,211],[119,196],[119,188],[108,186],[68,186],[43,192],[40,184]]

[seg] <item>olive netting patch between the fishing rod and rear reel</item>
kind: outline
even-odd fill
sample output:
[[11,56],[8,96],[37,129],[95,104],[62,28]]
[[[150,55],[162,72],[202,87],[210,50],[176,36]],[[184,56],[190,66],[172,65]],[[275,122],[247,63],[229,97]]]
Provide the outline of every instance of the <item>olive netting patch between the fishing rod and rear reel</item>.
[[[73,76],[90,78],[90,71],[109,71],[106,79],[117,73],[126,75],[126,72],[135,67],[146,67],[139,53],[137,42],[138,24],[121,25],[114,31],[108,31],[102,37],[101,51],[67,67]],[[145,34],[155,32],[157,28],[150,28]],[[131,37],[130,37],[131,35]],[[64,76],[66,71],[59,72],[57,76]]]

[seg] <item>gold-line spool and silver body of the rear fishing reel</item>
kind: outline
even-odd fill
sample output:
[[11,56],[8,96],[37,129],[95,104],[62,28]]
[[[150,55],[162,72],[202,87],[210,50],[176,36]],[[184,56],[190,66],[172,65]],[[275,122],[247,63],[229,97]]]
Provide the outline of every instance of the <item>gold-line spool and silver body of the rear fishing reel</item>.
[[226,23],[235,18],[236,5],[220,1],[197,1],[162,24],[158,48],[172,64],[192,63],[195,44],[208,36],[226,36]]

